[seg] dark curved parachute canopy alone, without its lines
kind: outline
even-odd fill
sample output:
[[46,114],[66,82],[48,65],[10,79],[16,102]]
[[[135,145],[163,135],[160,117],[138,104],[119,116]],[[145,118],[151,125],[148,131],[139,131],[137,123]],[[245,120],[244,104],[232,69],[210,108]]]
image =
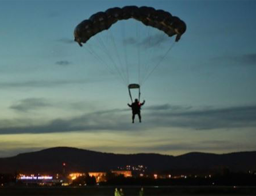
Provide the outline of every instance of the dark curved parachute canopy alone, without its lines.
[[117,21],[129,18],[141,21],[146,26],[157,28],[170,37],[177,35],[176,42],[186,31],[185,22],[176,16],[172,16],[169,12],[146,6],[125,6],[123,8],[110,8],[105,12],[97,12],[89,19],[82,21],[74,30],[75,41],[82,46],[82,43],[86,43],[97,33],[109,29]]

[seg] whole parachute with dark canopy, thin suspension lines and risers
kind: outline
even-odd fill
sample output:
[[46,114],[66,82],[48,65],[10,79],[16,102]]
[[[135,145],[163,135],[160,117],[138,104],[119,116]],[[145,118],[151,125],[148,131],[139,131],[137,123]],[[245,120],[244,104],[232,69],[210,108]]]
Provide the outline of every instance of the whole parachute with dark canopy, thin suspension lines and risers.
[[[147,7],[147,6],[141,6],[141,7],[124,6],[123,8],[115,7],[115,8],[110,8],[104,12],[102,11],[97,12],[93,14],[89,19],[86,19],[81,23],[79,23],[74,29],[74,40],[80,46],[83,46],[83,43],[87,44],[88,40],[91,39],[93,36],[97,34],[101,34],[100,32],[104,30],[111,29],[110,27],[113,26],[114,23],[122,20],[128,20],[128,19],[135,19],[136,21],[139,21],[141,24],[144,24],[145,26],[160,30],[168,37],[176,36],[175,42],[178,42],[181,36],[183,35],[183,33],[186,31],[185,22],[179,19],[177,16],[172,16],[171,13],[167,11],[156,10],[152,7]],[[143,34],[146,34],[146,33],[143,33]],[[117,47],[117,44],[114,41],[114,37],[115,35],[114,36],[112,35],[111,37],[111,39],[113,39],[113,45],[115,46],[115,51],[113,53],[115,53],[118,56],[118,53],[120,52],[121,49]],[[148,41],[150,42],[150,39]],[[123,61],[126,62],[126,66],[127,66],[125,69],[123,67],[118,68],[118,64],[122,64],[122,59],[120,58],[120,56],[118,56],[118,62],[115,62],[113,60],[113,56],[111,56],[110,51],[107,48],[109,44],[104,44],[102,42],[102,39],[100,38],[99,38],[99,44],[101,45],[102,51],[104,51],[107,58],[111,60],[111,64],[114,65],[113,69],[117,70],[116,72],[119,74],[120,78],[128,86],[131,100],[132,100],[132,96],[130,93],[130,89],[139,89],[139,97],[140,97],[140,86],[141,86],[140,81],[139,81],[139,84],[137,83],[129,84],[129,73],[128,73],[129,66],[127,63],[126,47],[124,47],[123,49],[125,51]],[[141,58],[139,57],[140,55],[139,47],[137,48],[138,48],[138,66],[139,66],[138,71],[139,71],[139,77],[140,77]],[[151,73],[155,70],[155,68],[163,61],[163,59],[167,56],[167,53],[171,50],[171,48],[172,47],[170,47],[165,53],[163,53],[159,62],[155,63],[155,65],[151,67],[151,70],[145,69],[148,72],[145,78],[143,78],[143,81],[146,80],[149,77],[149,75],[151,75]],[[102,53],[95,52],[95,50],[92,50],[91,48],[89,52],[92,55],[94,55],[95,58],[97,58],[102,64],[107,64],[106,60],[102,57]],[[150,55],[148,55],[148,57],[150,57]],[[126,72],[126,74],[122,73],[122,71]]]

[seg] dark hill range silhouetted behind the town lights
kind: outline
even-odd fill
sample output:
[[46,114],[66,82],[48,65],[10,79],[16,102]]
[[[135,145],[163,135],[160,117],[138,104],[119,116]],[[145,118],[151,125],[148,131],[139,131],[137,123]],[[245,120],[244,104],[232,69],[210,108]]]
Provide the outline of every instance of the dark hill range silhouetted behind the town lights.
[[114,154],[70,147],[48,148],[37,152],[0,158],[0,173],[61,173],[66,163],[69,172],[107,171],[125,165],[145,165],[148,171],[231,171],[256,170],[256,151],[228,154],[192,152],[180,156],[154,153]]

